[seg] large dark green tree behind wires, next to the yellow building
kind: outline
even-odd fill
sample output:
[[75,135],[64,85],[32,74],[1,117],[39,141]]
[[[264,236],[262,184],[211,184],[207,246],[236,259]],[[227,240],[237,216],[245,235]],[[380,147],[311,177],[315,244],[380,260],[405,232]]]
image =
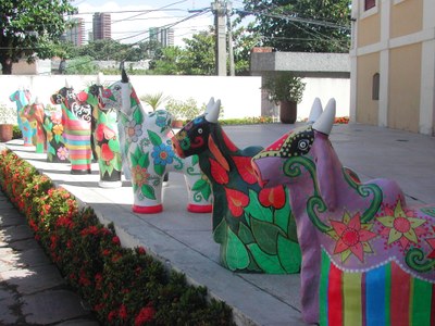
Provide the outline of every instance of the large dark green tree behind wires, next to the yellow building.
[[348,52],[350,0],[244,0],[241,17],[253,15],[250,29],[262,46],[278,51]]

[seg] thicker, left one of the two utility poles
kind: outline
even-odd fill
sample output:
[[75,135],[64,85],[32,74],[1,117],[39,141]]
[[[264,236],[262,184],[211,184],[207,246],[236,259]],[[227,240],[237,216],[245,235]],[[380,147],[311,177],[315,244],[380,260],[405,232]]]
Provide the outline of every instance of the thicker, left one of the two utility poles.
[[225,33],[225,15],[226,5],[223,1],[214,0],[212,3],[214,14],[214,28],[216,34],[215,58],[216,58],[216,75],[226,76],[226,33]]

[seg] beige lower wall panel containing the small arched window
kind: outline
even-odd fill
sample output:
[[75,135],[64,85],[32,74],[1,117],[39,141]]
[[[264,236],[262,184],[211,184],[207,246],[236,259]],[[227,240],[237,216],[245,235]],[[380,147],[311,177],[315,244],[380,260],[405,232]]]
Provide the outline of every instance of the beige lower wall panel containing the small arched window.
[[378,105],[372,99],[373,75],[380,72],[380,54],[371,53],[358,59],[357,85],[357,122],[377,125]]

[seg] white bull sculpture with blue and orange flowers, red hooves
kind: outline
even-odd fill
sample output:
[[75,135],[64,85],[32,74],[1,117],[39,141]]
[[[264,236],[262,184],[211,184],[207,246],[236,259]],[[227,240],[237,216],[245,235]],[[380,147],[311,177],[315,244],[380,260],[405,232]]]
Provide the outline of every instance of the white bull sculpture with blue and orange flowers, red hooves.
[[117,110],[121,147],[132,174],[133,211],[161,212],[164,175],[178,172],[185,175],[188,188],[187,210],[211,212],[210,184],[199,170],[198,158],[183,160],[174,153],[172,115],[165,110],[147,114],[125,71],[122,71],[122,80],[104,90],[103,102],[107,109]]

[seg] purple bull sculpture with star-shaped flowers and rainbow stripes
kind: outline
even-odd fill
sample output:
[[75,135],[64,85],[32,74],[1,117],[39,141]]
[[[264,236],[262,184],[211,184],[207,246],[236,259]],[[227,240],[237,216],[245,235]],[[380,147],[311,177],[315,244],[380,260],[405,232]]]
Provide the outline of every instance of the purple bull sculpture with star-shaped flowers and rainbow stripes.
[[389,179],[356,180],[328,139],[332,99],[309,126],[252,159],[288,185],[302,251],[302,317],[321,325],[435,325],[435,204],[408,206]]

